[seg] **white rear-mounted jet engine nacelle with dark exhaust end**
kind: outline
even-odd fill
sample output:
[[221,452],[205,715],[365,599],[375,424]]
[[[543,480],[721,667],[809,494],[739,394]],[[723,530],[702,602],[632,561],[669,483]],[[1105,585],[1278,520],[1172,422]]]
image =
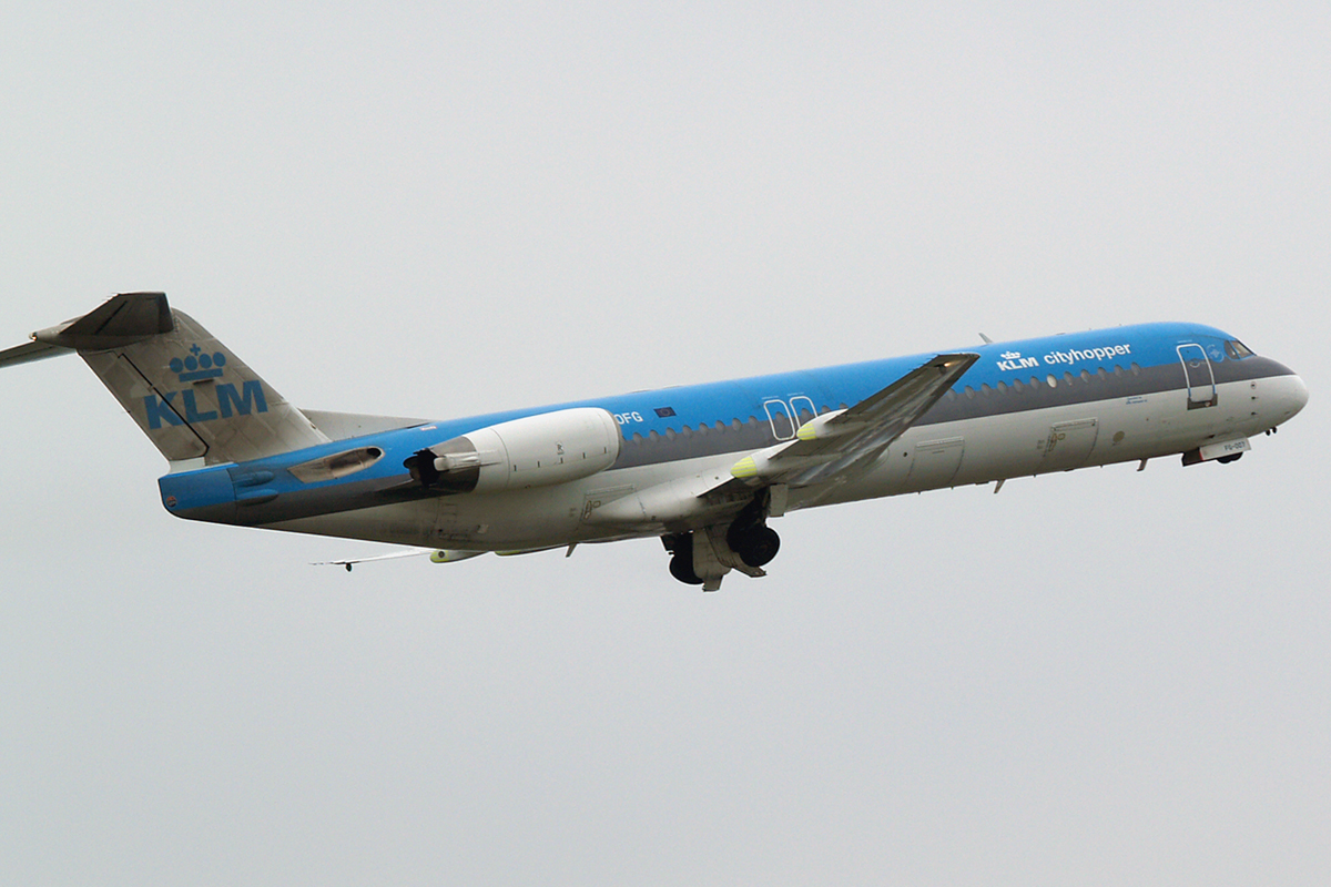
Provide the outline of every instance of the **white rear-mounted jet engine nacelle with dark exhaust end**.
[[402,463],[425,487],[488,493],[550,487],[615,464],[619,424],[598,407],[575,407],[500,422],[445,440]]

